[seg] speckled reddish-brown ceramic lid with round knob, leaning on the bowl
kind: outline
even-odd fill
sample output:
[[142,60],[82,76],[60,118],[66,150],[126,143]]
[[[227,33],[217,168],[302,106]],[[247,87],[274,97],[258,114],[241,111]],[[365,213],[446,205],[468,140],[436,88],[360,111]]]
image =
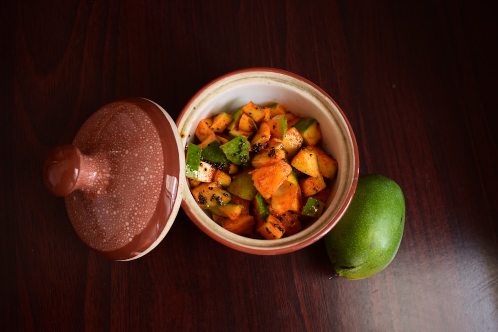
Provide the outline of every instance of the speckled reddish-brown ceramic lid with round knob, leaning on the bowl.
[[166,235],[180,208],[185,168],[178,129],[159,105],[132,98],[96,111],[43,178],[64,196],[74,229],[115,260],[138,258]]

